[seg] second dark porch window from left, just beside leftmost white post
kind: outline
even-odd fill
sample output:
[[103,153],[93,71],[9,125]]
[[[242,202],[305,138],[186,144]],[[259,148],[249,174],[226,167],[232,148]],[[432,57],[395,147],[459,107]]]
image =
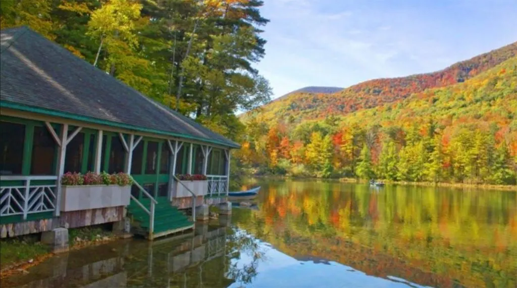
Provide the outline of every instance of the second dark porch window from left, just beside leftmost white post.
[[54,175],[57,144],[47,127],[34,127],[31,175]]

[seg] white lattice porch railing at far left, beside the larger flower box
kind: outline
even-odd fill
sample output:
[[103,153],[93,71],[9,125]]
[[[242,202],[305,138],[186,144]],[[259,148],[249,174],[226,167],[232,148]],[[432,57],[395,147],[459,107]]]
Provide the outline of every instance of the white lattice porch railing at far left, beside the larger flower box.
[[[50,212],[56,209],[57,176],[2,176],[0,186],[0,217]],[[52,184],[40,184],[43,181]],[[5,181],[17,181],[21,185],[4,185]],[[32,183],[31,183],[32,181]]]

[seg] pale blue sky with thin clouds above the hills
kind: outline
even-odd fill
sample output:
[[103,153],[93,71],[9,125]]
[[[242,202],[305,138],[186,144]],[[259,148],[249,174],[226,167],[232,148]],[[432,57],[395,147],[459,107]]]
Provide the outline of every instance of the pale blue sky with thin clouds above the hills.
[[517,41],[517,0],[264,0],[271,98],[444,69]]

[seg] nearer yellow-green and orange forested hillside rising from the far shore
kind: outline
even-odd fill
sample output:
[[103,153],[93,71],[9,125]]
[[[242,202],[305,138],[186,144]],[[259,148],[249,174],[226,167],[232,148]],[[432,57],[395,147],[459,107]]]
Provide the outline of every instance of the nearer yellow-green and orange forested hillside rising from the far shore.
[[[510,47],[498,51],[514,53]],[[488,66],[482,61],[477,69]],[[301,124],[293,115],[274,122],[268,117],[250,116],[239,151],[240,164],[257,173],[516,182],[517,57],[462,83],[342,117]]]

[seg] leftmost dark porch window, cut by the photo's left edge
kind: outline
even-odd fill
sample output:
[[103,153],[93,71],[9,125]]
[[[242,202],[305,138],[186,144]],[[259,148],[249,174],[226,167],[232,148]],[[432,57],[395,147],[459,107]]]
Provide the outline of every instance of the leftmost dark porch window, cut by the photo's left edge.
[[0,174],[22,174],[25,125],[0,123]]

